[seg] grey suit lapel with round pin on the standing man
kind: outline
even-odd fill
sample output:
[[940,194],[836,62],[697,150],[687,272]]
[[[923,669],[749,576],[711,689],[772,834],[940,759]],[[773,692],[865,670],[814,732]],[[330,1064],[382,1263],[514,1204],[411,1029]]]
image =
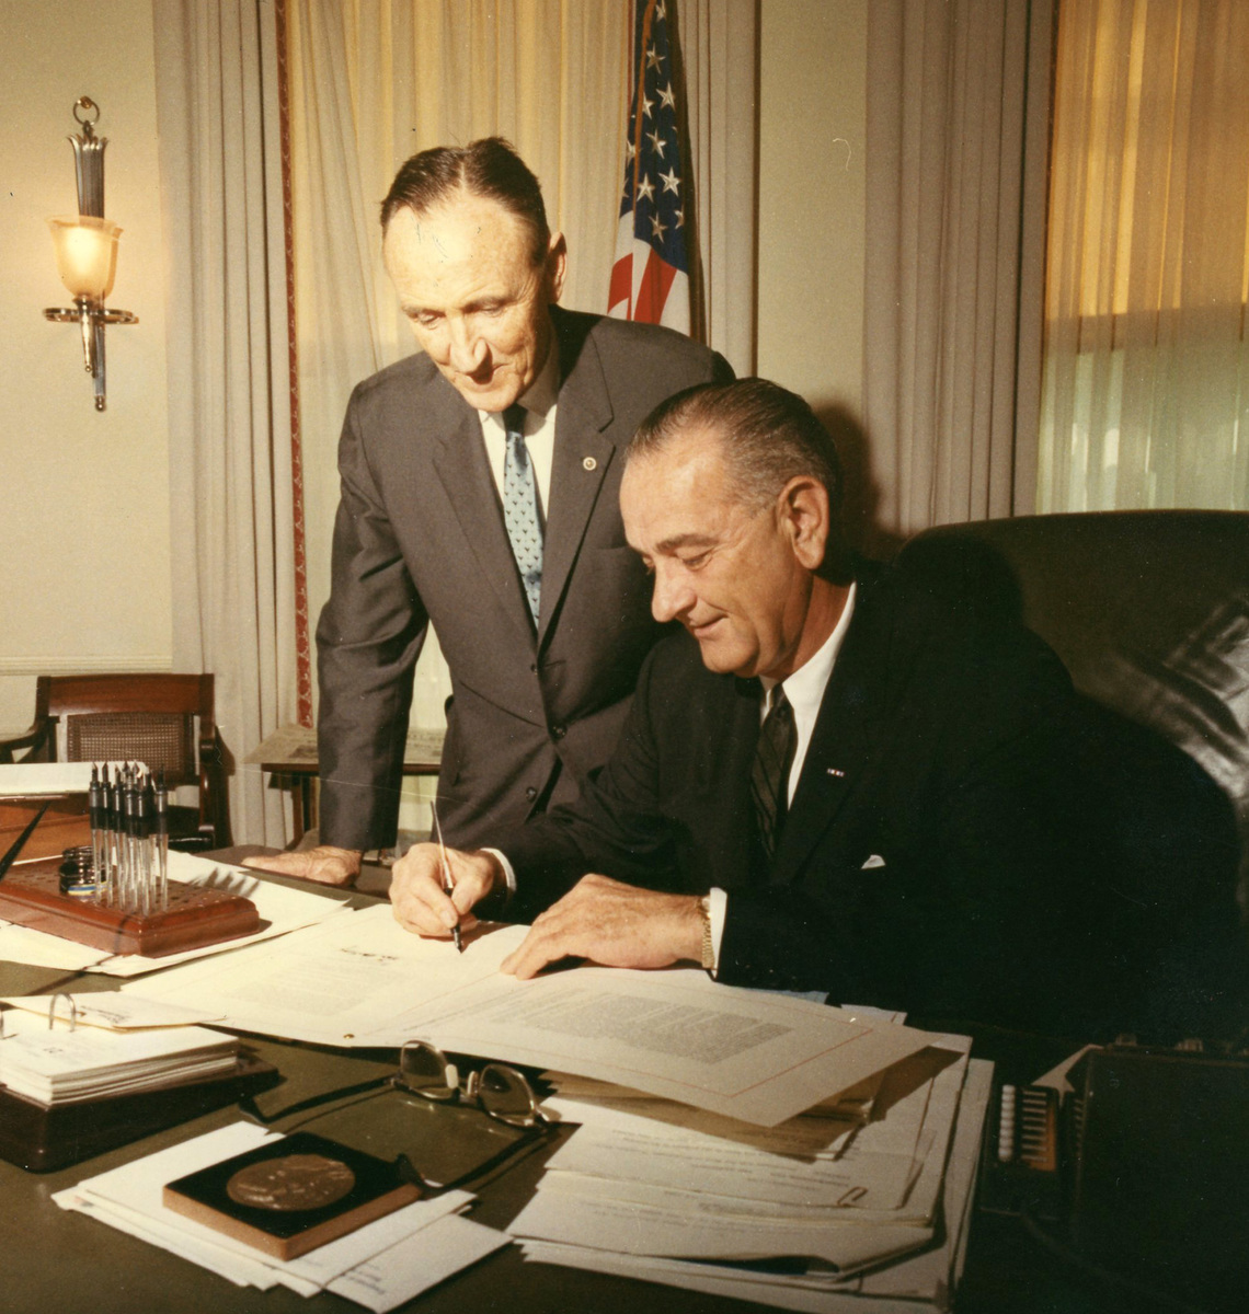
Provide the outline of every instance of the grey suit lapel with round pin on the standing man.
[[551,307],[560,348],[561,386],[555,415],[547,532],[542,556],[539,643],[546,637],[572,572],[603,478],[615,459],[611,399],[594,344],[573,339],[557,306]]

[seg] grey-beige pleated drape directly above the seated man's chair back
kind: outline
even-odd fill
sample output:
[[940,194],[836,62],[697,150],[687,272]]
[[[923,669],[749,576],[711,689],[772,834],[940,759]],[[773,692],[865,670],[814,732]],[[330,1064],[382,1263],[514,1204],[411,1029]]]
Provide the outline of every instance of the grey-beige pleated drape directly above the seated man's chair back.
[[886,536],[1031,510],[1052,13],[868,11],[864,418]]

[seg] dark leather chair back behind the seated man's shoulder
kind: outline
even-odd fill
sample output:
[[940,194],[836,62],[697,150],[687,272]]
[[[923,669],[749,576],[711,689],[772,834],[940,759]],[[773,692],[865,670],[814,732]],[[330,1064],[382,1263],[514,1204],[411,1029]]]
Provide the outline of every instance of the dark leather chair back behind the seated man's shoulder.
[[903,552],[1022,612],[1081,692],[1200,763],[1249,838],[1249,512],[982,520]]

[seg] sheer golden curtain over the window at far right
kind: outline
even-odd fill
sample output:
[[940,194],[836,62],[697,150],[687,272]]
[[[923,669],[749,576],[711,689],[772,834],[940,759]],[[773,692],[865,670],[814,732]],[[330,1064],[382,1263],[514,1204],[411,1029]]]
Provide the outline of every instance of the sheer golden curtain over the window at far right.
[[1062,0],[1041,510],[1249,510],[1246,70],[1244,0]]

